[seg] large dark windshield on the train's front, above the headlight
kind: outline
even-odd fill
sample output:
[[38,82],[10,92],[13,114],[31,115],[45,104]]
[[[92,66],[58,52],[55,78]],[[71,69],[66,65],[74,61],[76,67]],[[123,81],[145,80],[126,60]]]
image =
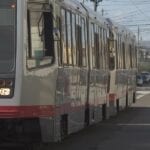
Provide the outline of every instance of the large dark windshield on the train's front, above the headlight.
[[0,73],[15,68],[16,5],[16,0],[0,0]]

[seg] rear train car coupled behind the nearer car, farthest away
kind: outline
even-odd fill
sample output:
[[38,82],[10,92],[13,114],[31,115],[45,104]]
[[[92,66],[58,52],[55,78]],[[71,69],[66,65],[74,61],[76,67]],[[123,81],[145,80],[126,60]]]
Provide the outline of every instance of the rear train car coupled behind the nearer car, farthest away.
[[109,25],[110,115],[135,102],[137,50],[135,35],[107,19]]

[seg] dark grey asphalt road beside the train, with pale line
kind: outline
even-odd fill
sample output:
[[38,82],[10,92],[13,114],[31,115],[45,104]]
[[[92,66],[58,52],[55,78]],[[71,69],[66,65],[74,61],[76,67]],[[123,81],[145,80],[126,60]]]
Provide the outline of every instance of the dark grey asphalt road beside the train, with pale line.
[[42,150],[150,150],[150,95],[116,117]]

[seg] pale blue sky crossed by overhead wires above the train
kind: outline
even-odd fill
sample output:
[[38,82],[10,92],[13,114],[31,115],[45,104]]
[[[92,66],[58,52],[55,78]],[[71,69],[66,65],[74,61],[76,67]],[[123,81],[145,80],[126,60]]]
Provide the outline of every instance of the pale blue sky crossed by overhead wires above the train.
[[[78,0],[94,9],[90,0]],[[150,41],[150,0],[103,0],[99,3],[98,12],[104,17],[131,29],[139,39]]]

